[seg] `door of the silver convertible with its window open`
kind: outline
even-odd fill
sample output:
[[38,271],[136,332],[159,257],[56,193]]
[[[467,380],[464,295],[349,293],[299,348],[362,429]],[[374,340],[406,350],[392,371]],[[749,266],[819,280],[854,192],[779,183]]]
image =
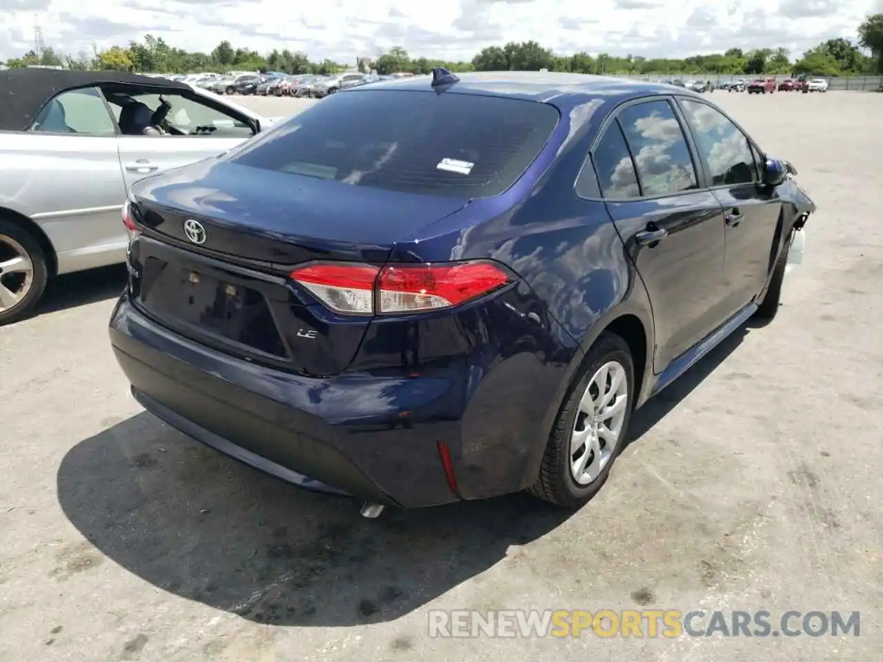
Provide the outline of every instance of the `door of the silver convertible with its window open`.
[[[159,94],[138,94],[136,101],[155,110]],[[253,129],[233,111],[225,112],[181,94],[162,94],[171,104],[165,136],[127,136],[118,140],[119,161],[128,187],[157,172],[222,154],[254,135]],[[112,106],[117,118],[119,106]]]

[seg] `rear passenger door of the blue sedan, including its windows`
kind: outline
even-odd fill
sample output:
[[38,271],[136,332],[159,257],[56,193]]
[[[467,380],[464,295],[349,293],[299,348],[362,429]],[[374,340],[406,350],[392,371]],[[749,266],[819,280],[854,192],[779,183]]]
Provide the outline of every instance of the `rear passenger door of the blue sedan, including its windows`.
[[661,372],[726,319],[721,203],[701,190],[701,171],[667,99],[620,109],[592,161],[650,295],[653,366]]

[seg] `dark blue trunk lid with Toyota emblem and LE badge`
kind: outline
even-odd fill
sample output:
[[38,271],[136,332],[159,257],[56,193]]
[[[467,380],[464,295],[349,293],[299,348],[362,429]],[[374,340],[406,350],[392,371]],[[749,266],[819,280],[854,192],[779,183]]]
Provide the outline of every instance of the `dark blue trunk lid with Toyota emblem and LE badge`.
[[143,232],[131,245],[132,300],[196,342],[315,377],[350,365],[371,318],[329,311],[291,270],[316,260],[380,265],[396,236],[467,202],[291,175],[282,185],[273,173],[254,186],[242,169],[209,160],[136,188]]

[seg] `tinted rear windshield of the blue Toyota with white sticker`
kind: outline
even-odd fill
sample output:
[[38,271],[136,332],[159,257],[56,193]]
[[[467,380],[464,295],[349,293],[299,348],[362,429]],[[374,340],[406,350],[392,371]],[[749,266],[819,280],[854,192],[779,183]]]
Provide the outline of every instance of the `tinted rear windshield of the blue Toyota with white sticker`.
[[485,198],[521,176],[558,117],[548,104],[501,97],[344,92],[276,125],[228,158],[355,186]]

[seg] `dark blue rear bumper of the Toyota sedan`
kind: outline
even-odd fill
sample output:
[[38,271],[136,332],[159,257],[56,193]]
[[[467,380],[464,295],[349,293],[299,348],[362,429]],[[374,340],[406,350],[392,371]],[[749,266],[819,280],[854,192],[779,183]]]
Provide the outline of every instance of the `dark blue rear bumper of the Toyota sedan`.
[[541,414],[559,397],[543,387],[562,370],[528,353],[492,370],[464,360],[415,378],[305,378],[191,342],[125,294],[109,335],[133,395],[172,427],[294,485],[403,508],[532,484],[548,429]]

